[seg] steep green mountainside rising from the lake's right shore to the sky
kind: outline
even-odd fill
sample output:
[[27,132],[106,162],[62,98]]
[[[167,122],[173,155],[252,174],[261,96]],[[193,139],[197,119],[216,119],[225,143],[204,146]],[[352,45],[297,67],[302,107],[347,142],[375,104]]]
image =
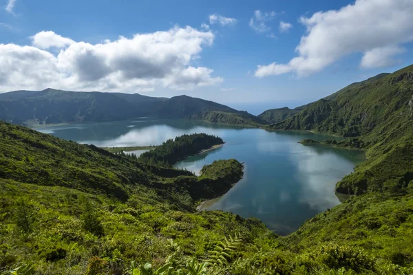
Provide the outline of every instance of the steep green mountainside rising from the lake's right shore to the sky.
[[337,184],[337,191],[400,190],[413,173],[413,66],[356,83],[268,129],[359,136],[368,159]]

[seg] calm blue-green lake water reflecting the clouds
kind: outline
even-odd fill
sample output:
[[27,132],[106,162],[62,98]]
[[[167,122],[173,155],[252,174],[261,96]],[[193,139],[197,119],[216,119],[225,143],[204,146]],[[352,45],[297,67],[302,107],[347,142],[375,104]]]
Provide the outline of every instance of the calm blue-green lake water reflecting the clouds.
[[[339,204],[334,188],[363,160],[358,151],[303,146],[304,138],[332,138],[306,132],[267,132],[183,120],[136,119],[36,129],[65,140],[96,146],[147,146],[184,133],[222,137],[224,146],[176,164],[199,173],[215,159],[244,162],[244,178],[207,206],[257,217],[279,234],[297,230],[306,219]],[[140,152],[136,152],[140,153]]]

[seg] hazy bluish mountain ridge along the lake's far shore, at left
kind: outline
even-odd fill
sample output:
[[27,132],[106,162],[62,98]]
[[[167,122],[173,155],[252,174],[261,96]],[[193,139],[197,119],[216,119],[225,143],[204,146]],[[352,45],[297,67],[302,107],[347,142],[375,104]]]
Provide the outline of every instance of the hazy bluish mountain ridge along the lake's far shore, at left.
[[11,91],[0,94],[0,120],[33,126],[70,122],[127,120],[142,116],[206,120],[258,126],[264,120],[200,98],[155,98],[140,94],[61,91]]

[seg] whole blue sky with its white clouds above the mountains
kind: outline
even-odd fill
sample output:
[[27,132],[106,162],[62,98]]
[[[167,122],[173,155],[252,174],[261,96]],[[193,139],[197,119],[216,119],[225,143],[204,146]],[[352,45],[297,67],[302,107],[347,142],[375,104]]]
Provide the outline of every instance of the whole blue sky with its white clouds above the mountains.
[[260,113],[413,63],[410,0],[1,5],[0,92],[187,94]]

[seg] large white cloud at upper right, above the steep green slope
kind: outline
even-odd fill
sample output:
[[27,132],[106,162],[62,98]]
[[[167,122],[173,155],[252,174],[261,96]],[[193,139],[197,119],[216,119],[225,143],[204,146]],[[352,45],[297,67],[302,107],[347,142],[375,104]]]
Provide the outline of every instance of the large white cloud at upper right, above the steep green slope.
[[296,48],[298,56],[286,64],[259,65],[255,76],[308,76],[353,53],[364,54],[361,67],[390,65],[401,45],[413,41],[412,14],[412,0],[357,0],[340,10],[301,17],[307,33]]

